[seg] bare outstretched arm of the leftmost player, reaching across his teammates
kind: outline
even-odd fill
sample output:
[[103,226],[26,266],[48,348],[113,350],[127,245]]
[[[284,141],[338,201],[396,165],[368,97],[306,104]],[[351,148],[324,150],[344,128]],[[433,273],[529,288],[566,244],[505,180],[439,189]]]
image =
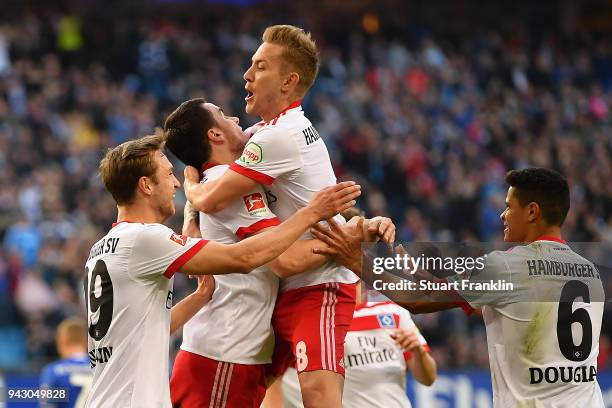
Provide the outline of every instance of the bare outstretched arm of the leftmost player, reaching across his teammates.
[[352,181],[327,187],[276,228],[236,244],[209,242],[182,271],[191,275],[248,273],[286,251],[312,225],[353,206],[360,194],[360,186]]

